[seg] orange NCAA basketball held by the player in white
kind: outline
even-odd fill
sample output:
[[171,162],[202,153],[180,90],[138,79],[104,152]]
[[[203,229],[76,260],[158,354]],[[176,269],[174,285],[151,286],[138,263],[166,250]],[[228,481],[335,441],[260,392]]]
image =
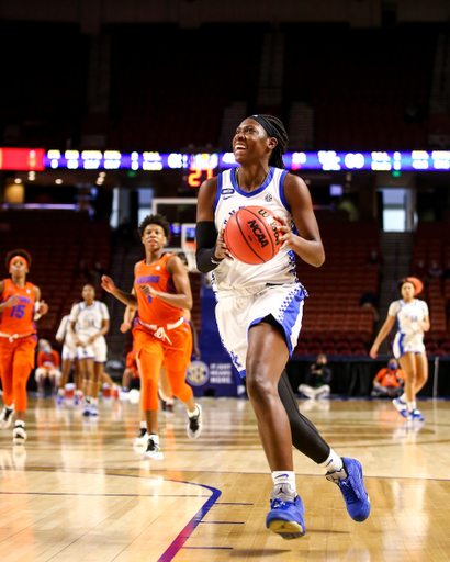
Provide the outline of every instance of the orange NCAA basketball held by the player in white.
[[249,266],[266,263],[280,250],[281,223],[262,206],[244,206],[225,225],[224,241],[234,258]]

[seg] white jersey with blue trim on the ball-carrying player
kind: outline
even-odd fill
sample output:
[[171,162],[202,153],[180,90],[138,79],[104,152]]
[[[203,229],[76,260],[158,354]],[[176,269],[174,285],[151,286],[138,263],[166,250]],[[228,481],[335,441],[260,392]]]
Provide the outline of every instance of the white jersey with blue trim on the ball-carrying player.
[[[295,228],[289,204],[284,198],[283,182],[286,170],[270,168],[269,175],[260,188],[248,193],[239,189],[235,170],[225,170],[217,177],[217,193],[214,201],[215,227],[221,232],[228,218],[244,206],[260,205]],[[215,292],[239,291],[267,283],[299,283],[295,272],[295,257],[292,250],[282,249],[274,258],[260,266],[248,266],[235,259],[224,259],[215,268],[212,285]]]

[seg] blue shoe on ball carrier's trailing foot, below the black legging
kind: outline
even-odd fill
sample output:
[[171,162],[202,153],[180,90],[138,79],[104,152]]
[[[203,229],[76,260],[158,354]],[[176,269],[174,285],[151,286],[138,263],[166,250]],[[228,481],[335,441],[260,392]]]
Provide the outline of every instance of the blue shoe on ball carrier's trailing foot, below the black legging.
[[342,469],[347,473],[346,477],[339,475],[342,471],[327,472],[325,476],[339,486],[347,512],[353,521],[365,521],[370,514],[370,499],[362,480],[361,463],[346,457],[342,457]]

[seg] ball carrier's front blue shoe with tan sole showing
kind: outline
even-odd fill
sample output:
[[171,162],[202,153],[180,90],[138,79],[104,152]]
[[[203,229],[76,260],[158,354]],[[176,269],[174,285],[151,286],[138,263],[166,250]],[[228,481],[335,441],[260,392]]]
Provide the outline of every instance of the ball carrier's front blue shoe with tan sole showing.
[[266,517],[266,527],[285,540],[299,539],[305,533],[305,508],[300,496],[294,502],[274,498]]

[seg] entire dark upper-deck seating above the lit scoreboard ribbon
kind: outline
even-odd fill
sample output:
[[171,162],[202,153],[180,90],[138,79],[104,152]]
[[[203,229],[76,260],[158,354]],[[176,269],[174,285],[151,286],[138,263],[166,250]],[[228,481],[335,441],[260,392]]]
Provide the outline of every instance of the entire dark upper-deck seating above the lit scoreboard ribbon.
[[[0,92],[0,119],[15,127],[12,136],[4,130],[7,146],[66,148],[70,138],[79,148],[89,130],[123,151],[216,148],[225,106],[246,100],[250,112],[261,110],[260,63],[270,31],[265,23],[209,23],[195,30],[105,25],[103,33],[111,36],[108,114],[89,114],[91,42],[76,25],[3,22],[0,30],[3,52],[18,36],[26,37],[24,48],[4,61],[7,75],[14,77]],[[395,30],[283,23],[282,101],[273,109],[286,122],[293,102],[308,102],[316,149],[426,148],[439,31],[412,23]]]

